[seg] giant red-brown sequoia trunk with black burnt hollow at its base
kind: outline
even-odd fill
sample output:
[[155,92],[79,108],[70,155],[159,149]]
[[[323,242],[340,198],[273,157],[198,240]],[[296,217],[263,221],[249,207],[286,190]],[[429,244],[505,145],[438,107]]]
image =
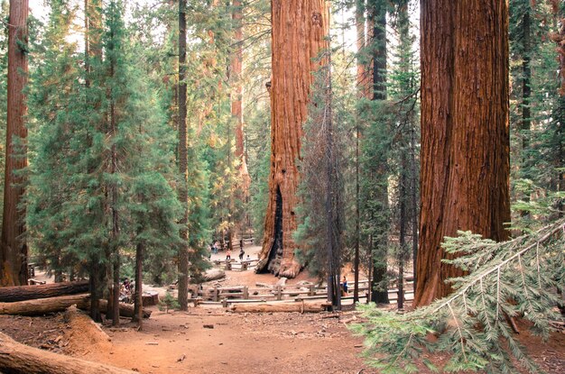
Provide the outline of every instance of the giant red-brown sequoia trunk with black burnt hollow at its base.
[[302,124],[308,117],[312,72],[327,48],[329,4],[324,0],[272,0],[273,80],[271,87],[271,174],[263,250],[257,271],[294,278],[296,196],[300,181]]

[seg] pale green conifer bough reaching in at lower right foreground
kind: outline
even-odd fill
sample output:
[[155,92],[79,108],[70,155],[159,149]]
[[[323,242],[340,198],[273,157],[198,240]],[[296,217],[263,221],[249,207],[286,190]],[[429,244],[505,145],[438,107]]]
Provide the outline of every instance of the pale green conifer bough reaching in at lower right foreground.
[[[511,317],[549,338],[565,291],[565,221],[509,242],[458,234],[443,247],[469,275],[450,279],[453,294],[406,315],[359,306],[366,322],[351,329],[366,337],[369,364],[384,374],[418,372],[415,362],[432,371],[542,372],[516,340]],[[434,352],[449,358],[441,368],[426,358]]]

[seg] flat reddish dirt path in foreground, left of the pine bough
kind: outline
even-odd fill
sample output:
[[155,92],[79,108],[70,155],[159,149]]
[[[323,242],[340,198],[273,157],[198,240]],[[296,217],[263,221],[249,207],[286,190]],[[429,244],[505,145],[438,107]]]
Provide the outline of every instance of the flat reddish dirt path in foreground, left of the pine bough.
[[355,348],[361,341],[337,318],[321,315],[161,313],[143,332],[109,333],[113,351],[93,351],[88,358],[147,374],[357,373],[364,368],[357,357],[361,349]]

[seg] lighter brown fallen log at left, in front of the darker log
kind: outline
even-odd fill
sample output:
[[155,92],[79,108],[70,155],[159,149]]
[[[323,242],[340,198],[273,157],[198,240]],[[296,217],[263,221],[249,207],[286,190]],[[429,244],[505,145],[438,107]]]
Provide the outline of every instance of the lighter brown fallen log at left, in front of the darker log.
[[0,315],[48,315],[62,312],[75,304],[88,303],[88,297],[88,294],[80,294],[0,303]]

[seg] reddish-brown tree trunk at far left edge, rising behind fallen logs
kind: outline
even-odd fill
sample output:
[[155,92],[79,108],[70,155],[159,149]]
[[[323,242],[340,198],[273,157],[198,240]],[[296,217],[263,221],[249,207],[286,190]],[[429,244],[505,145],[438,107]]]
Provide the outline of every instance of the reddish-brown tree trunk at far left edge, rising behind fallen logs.
[[25,178],[17,173],[27,167],[24,119],[27,105],[23,88],[27,84],[28,0],[10,1],[8,21],[8,107],[6,123],[6,160],[4,221],[0,242],[0,286],[27,284],[27,244],[23,200]]

